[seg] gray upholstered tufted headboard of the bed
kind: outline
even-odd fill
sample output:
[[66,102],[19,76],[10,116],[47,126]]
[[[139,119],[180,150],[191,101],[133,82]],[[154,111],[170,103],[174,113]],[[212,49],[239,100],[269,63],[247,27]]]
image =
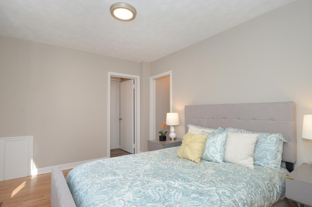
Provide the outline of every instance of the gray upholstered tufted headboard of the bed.
[[293,164],[297,160],[296,105],[294,102],[186,105],[186,131],[188,124],[210,128],[221,126],[255,132],[281,133],[288,141],[283,145],[282,161]]

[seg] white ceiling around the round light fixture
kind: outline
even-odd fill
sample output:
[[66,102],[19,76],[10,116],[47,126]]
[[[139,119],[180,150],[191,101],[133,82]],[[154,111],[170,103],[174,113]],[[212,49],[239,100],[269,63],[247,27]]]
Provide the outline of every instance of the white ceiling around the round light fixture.
[[111,16],[119,0],[0,0],[0,35],[153,62],[294,0],[121,1],[135,20]]

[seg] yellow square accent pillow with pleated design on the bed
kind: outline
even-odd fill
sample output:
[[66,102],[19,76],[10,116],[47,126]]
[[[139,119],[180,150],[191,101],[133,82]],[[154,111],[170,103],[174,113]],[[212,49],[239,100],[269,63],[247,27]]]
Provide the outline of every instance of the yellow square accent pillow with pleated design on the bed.
[[207,135],[191,133],[185,134],[182,140],[182,145],[177,151],[177,156],[195,163],[200,163],[200,158],[203,154],[206,140]]

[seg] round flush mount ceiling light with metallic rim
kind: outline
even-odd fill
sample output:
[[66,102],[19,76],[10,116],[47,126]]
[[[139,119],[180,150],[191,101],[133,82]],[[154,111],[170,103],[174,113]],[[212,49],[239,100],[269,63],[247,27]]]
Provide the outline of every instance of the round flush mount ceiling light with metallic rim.
[[130,21],[136,18],[137,10],[128,3],[114,3],[111,5],[111,14],[117,20]]

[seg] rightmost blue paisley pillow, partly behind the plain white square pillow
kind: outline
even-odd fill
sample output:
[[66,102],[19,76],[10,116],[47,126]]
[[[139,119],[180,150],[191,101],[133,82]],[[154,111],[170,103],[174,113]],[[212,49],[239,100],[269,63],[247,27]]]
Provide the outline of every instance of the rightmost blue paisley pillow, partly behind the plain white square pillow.
[[254,164],[267,166],[279,171],[282,162],[283,143],[287,142],[280,134],[259,133],[243,129],[226,128],[227,132],[258,134],[254,150]]

